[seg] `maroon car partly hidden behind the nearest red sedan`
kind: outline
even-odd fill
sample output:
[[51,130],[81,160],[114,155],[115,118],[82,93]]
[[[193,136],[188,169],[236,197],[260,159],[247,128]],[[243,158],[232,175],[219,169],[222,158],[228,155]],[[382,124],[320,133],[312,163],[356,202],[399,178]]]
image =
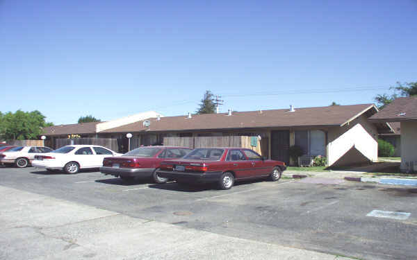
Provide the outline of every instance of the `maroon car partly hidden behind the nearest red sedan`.
[[183,147],[144,146],[119,157],[104,158],[100,171],[105,175],[121,177],[125,181],[136,177],[151,177],[156,183],[164,183],[167,179],[156,174],[161,162],[181,158],[190,151],[191,149]]

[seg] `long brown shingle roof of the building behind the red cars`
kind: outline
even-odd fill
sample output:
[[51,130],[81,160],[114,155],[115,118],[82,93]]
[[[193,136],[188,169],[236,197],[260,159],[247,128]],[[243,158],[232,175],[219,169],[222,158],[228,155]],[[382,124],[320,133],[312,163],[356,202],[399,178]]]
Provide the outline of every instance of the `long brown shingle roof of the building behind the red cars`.
[[[373,108],[374,107],[374,108]],[[139,131],[183,131],[183,130],[214,130],[236,128],[293,127],[313,125],[343,125],[355,116],[376,108],[373,104],[334,105],[328,107],[295,108],[295,112],[286,110],[263,110],[250,112],[234,112],[227,114],[193,114],[187,116],[165,116],[161,120],[149,119],[149,128],[143,121],[122,125],[102,132],[139,132]]]

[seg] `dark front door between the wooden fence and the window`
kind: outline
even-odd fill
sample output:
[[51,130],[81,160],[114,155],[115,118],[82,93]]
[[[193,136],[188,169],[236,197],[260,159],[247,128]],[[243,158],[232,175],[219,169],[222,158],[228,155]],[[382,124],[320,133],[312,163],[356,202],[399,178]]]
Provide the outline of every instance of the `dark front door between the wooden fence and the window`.
[[290,131],[279,130],[271,132],[271,159],[288,164],[290,161],[289,148]]

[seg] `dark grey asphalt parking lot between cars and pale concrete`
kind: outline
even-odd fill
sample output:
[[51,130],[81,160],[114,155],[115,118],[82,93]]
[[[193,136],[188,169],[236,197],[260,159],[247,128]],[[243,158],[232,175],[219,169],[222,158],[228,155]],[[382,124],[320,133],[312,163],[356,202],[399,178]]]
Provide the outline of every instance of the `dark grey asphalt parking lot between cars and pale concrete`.
[[[318,182],[257,180],[221,191],[212,185],[181,187],[148,180],[126,184],[97,171],[67,175],[32,167],[0,167],[2,187],[132,218],[335,256],[415,258],[416,188]],[[407,219],[366,216],[373,210],[410,215]]]

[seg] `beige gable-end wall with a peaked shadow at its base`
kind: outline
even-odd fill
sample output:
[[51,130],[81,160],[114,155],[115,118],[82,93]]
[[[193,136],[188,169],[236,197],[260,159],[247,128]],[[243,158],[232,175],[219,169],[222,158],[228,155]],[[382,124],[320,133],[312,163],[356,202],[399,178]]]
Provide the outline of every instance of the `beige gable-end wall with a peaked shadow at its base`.
[[[327,159],[329,166],[332,166],[345,154],[346,157],[343,158],[343,164],[377,161],[377,136],[377,128],[364,115],[348,125],[330,128],[327,132]],[[360,153],[347,153],[352,148],[355,148]],[[366,158],[361,158],[360,154]]]

